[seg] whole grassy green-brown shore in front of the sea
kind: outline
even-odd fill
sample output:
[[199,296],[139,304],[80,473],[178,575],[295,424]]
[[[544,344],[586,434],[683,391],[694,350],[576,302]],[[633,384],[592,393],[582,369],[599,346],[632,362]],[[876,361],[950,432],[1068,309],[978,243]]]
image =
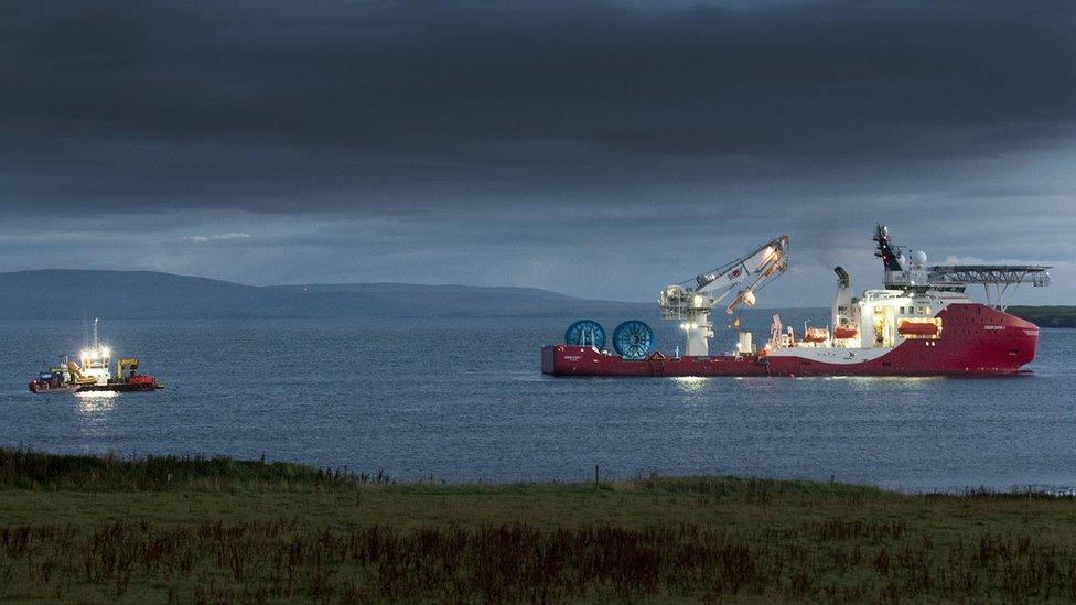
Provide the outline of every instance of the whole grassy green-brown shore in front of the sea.
[[734,477],[391,485],[0,449],[0,599],[1076,598],[1076,500]]

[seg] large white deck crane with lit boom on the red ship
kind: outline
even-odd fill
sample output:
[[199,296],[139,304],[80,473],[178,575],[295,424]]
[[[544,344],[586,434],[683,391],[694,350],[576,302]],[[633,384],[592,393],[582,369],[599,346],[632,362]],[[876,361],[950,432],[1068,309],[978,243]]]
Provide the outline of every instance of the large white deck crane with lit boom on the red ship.
[[741,304],[755,304],[755,293],[786,269],[788,236],[783,235],[693,280],[666,287],[658,300],[661,317],[680,322],[687,336],[685,355],[706,357],[710,354],[709,339],[713,336],[712,309],[733,293],[732,302],[725,306],[729,315]]

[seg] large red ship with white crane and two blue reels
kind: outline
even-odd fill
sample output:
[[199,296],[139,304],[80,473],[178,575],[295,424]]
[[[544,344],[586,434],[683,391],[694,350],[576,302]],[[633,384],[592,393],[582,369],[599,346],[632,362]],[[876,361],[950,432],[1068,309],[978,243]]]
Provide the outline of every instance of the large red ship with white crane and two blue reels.
[[[661,292],[661,316],[680,322],[687,344],[671,355],[654,352],[654,333],[638,321],[613,333],[596,322],[572,324],[566,344],[541,352],[542,372],[553,376],[993,376],[1021,371],[1035,358],[1039,327],[1003,311],[1002,299],[1019,284],[1050,283],[1042,266],[927,266],[922,251],[906,253],[890,241],[889,229],[874,233],[885,270],[885,288],[851,295],[840,267],[831,323],[796,334],[773,316],[770,338],[753,345],[740,332],[736,349],[710,355],[711,310],[725,299],[728,314],[753,305],[756,293],[788,268],[788,237],[781,236],[751,255]],[[987,304],[965,293],[981,284]],[[733,294],[734,293],[734,294]],[[734,322],[739,327],[739,320]]]

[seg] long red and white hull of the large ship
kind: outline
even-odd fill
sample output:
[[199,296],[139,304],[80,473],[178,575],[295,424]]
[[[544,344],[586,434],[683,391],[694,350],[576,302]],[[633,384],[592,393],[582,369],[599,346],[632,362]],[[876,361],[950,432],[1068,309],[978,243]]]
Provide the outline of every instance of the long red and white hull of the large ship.
[[1021,371],[1035,357],[1039,328],[983,306],[953,304],[938,317],[938,338],[906,339],[889,348],[787,347],[770,355],[624,359],[594,347],[542,348],[552,376],[999,376]]

